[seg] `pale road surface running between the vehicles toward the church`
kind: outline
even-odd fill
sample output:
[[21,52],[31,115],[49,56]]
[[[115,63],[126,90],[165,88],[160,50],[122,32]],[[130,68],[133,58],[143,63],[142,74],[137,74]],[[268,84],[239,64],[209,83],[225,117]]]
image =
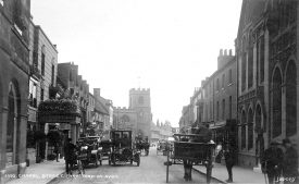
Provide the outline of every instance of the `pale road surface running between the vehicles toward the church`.
[[[166,157],[159,152],[157,156],[155,147],[151,147],[149,156],[145,156],[142,152],[140,167],[137,167],[134,162],[133,165],[120,164],[112,167],[104,160],[103,164],[99,168],[87,168],[85,175],[74,177],[59,177],[55,182],[59,184],[71,183],[166,183],[166,167],[163,164],[166,161]],[[192,171],[192,181],[185,182],[183,165],[171,165],[169,183],[205,183],[205,176]],[[215,181],[211,181],[216,183]],[[52,184],[51,183],[51,184]]]

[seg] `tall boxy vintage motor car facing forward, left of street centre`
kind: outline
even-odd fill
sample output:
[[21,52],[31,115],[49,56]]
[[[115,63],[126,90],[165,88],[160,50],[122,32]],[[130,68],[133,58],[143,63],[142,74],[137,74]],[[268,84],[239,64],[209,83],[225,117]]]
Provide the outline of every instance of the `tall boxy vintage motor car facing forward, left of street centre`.
[[132,131],[111,131],[112,152],[109,159],[113,165],[117,162],[133,162],[140,164],[140,152],[134,149]]

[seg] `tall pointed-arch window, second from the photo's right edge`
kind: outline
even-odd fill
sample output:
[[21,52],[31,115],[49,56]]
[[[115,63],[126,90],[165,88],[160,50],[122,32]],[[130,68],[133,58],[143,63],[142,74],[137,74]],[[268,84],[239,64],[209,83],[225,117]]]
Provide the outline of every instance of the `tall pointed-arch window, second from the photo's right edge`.
[[272,83],[272,138],[282,135],[282,74],[275,69]]

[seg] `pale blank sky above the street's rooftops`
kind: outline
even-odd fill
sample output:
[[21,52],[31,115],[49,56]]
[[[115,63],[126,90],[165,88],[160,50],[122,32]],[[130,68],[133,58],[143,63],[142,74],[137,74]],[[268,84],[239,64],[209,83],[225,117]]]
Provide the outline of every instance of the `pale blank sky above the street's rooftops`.
[[235,48],[241,0],[32,0],[33,22],[114,107],[150,88],[153,122],[178,126],[182,109]]

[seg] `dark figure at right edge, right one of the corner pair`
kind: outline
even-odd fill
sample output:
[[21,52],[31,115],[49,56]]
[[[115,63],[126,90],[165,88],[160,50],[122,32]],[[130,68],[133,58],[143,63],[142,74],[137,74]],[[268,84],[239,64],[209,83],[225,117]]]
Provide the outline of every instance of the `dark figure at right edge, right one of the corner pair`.
[[286,149],[283,161],[284,183],[298,182],[298,152],[288,138],[283,139]]

